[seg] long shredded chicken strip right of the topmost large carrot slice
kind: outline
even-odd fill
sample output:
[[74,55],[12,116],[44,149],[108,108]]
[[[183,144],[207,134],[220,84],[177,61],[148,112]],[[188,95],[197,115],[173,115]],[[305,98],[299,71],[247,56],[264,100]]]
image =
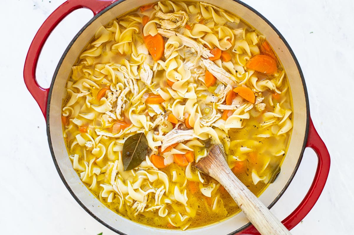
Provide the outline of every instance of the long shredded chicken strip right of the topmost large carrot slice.
[[204,58],[213,57],[213,55],[210,53],[209,49],[205,48],[203,45],[194,41],[193,39],[190,39],[189,37],[186,37],[182,34],[172,31],[172,30],[157,29],[157,31],[159,34],[161,34],[164,37],[171,37],[174,35],[179,37],[182,40],[182,44],[184,46],[191,47],[191,48],[195,49],[196,52],[198,52],[196,59],[198,59],[200,56],[202,56]]

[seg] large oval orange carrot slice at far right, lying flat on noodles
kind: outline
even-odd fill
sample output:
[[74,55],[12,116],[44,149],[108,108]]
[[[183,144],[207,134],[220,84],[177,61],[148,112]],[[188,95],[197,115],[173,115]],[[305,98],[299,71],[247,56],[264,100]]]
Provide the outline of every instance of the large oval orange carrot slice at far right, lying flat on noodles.
[[278,70],[275,59],[269,55],[255,55],[247,61],[246,67],[262,74],[274,74]]

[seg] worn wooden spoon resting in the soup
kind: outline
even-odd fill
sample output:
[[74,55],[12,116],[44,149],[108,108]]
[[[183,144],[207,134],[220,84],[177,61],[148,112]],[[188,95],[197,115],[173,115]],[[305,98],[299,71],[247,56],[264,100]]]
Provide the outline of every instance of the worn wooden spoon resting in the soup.
[[291,234],[255,194],[233,174],[220,146],[212,146],[209,154],[202,158],[195,167],[224,186],[259,233],[263,235]]

